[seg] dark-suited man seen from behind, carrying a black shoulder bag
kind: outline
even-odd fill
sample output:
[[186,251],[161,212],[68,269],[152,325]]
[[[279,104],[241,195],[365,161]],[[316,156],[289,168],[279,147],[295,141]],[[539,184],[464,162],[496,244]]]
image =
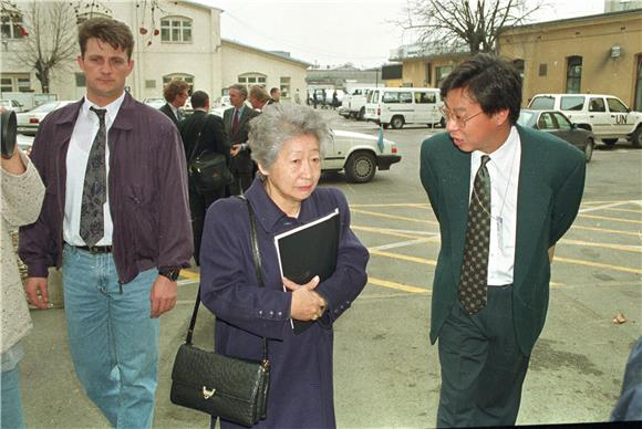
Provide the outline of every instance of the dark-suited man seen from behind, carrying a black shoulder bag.
[[[206,151],[224,154],[229,158],[229,146],[222,119],[208,113],[209,95],[204,91],[196,91],[191,94],[191,107],[194,108],[194,114],[178,125],[188,167],[190,159]],[[205,213],[209,205],[222,197],[225,197],[225,188],[209,193],[199,193],[191,180],[189,181],[194,260],[197,265],[200,265],[200,238],[203,236]]]

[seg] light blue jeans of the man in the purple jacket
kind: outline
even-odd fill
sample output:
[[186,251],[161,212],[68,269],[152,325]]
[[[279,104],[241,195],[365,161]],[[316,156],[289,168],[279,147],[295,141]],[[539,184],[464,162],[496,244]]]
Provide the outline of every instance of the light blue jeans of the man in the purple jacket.
[[149,317],[149,293],[157,274],[151,269],[121,286],[111,253],[64,247],[71,357],[87,396],[116,428],[152,427],[158,318]]

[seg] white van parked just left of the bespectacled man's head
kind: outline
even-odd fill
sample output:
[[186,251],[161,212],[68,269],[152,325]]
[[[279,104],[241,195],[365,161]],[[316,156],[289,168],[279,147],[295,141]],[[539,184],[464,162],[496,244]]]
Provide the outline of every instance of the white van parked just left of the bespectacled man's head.
[[367,94],[365,119],[398,129],[404,124],[445,126],[439,111],[444,105],[439,90],[431,87],[385,87]]

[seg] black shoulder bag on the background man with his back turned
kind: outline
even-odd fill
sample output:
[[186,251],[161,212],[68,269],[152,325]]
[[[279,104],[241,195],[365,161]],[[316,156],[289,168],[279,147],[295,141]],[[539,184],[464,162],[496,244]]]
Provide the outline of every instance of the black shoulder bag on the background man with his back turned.
[[[218,192],[232,181],[232,175],[227,164],[227,157],[224,154],[218,151],[198,153],[200,135],[203,134],[203,128],[205,128],[207,116],[203,122],[200,130],[198,132],[196,145],[194,145],[194,149],[187,160],[189,179],[196,191],[200,195]],[[198,154],[198,156],[196,154]]]

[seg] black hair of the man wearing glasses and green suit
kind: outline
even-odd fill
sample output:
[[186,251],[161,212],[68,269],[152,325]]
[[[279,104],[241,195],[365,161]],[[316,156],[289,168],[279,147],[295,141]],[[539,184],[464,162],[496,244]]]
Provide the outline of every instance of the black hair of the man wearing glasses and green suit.
[[508,121],[517,123],[521,106],[521,76],[512,63],[497,55],[480,53],[455,67],[441,86],[442,98],[462,88],[482,111],[493,115],[507,108]]

